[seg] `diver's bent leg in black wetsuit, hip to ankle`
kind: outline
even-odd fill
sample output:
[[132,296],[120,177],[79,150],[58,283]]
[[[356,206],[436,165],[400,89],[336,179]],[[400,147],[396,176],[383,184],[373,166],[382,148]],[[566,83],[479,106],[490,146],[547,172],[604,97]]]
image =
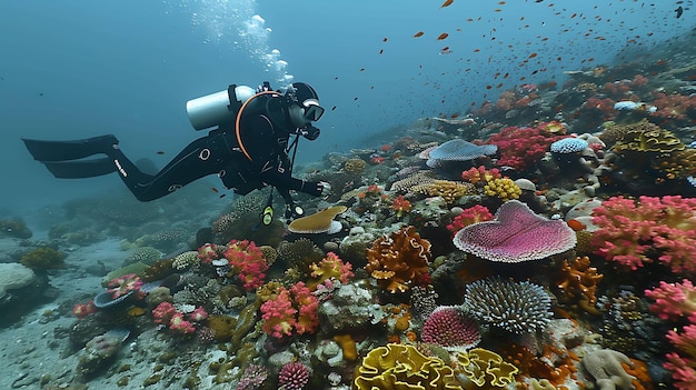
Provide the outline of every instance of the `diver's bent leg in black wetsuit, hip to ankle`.
[[[110,157],[121,180],[140,201],[150,201],[165,197],[181,187],[220,171],[222,156],[219,156],[215,139],[203,137],[189,143],[157,174],[146,174],[136,167],[120,149],[113,149]],[[215,153],[213,151],[218,151]]]

